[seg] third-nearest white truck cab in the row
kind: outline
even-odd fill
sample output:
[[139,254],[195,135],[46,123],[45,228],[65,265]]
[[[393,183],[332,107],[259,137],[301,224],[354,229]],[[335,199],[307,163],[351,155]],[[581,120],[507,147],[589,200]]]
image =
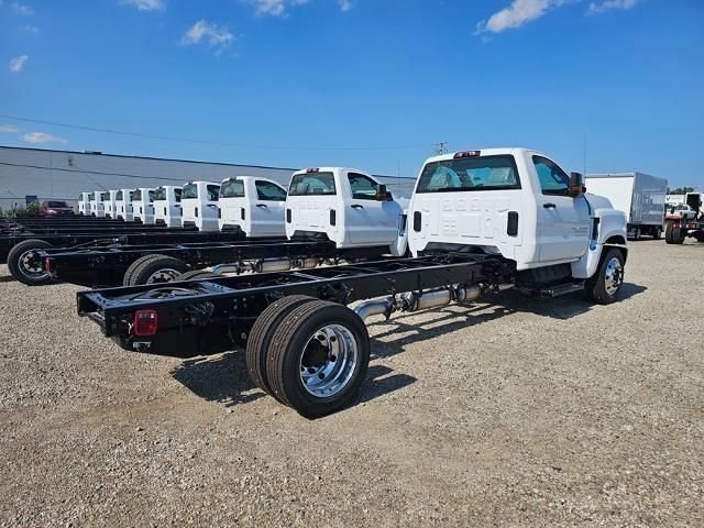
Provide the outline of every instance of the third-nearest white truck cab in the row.
[[242,231],[248,238],[284,237],[286,190],[276,182],[233,176],[220,184],[221,231]]

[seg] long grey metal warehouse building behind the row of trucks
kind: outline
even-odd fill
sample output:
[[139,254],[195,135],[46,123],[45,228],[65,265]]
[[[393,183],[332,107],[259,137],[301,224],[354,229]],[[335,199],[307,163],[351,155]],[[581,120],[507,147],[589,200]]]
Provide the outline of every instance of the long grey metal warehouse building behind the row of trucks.
[[[262,176],[287,187],[294,170],[297,169],[0,146],[0,208],[24,206],[35,197],[40,201],[53,198],[75,205],[81,191],[220,182],[230,176]],[[413,193],[413,178],[375,177],[394,196],[409,198]]]

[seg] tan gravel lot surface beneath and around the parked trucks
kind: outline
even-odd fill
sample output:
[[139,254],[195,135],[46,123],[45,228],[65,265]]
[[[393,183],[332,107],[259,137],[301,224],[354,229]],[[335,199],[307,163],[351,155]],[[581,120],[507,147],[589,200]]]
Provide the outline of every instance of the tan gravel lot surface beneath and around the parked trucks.
[[373,319],[360,399],[315,421],[241,352],[124,352],[2,266],[0,525],[702,526],[704,244],[630,251],[610,306]]

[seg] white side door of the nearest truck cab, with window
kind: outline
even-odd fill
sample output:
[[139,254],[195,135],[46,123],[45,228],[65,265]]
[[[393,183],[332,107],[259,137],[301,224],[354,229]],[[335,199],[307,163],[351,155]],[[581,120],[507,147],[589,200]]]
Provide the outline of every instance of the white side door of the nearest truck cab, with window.
[[584,197],[569,196],[570,177],[557,163],[532,156],[540,183],[538,242],[540,262],[580,258],[588,248],[590,212]]

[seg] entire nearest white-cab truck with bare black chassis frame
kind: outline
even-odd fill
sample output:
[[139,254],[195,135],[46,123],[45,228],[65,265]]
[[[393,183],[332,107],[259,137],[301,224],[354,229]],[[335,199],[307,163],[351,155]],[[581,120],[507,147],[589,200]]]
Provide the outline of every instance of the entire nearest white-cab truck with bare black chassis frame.
[[585,196],[582,175],[568,176],[537,152],[432,157],[409,213],[414,256],[81,292],[78,314],[129,351],[188,358],[246,341],[253,381],[315,418],[356,394],[370,359],[370,316],[508,288],[548,297],[583,290],[598,304],[620,290],[625,215]]

